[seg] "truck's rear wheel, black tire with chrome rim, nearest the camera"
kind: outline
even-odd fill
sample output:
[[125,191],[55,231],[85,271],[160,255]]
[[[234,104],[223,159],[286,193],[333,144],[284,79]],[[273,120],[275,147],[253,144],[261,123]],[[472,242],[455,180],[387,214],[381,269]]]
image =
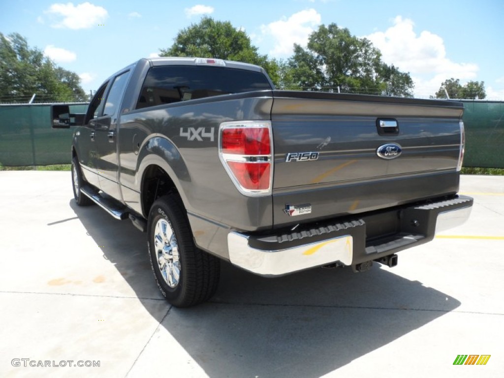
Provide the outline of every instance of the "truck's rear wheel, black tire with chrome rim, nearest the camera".
[[159,290],[172,305],[194,306],[208,300],[217,290],[220,260],[194,244],[191,226],[177,194],[163,196],[152,205],[147,248]]

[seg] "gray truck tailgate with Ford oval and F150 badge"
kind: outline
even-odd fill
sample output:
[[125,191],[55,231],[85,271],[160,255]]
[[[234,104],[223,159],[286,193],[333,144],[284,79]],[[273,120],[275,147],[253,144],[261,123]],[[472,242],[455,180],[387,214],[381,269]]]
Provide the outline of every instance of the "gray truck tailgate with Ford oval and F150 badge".
[[273,95],[275,226],[457,193],[461,103]]

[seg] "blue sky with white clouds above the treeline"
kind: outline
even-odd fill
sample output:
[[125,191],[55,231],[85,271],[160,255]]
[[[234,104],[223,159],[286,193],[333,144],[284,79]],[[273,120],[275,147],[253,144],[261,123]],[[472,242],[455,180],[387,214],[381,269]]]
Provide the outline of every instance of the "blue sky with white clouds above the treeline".
[[369,38],[388,64],[410,72],[415,95],[428,97],[454,77],[484,81],[504,100],[502,0],[0,0],[0,32],[20,33],[89,92],[140,57],[169,47],[204,15],[243,28],[260,53],[288,58],[320,24]]

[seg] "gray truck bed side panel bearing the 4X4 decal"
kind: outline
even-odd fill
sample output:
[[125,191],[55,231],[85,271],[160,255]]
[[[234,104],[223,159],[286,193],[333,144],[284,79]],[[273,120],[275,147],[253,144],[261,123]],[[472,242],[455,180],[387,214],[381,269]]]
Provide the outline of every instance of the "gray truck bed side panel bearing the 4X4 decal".
[[[271,196],[241,195],[217,152],[221,122],[269,119],[272,102],[271,91],[263,91],[256,96],[219,96],[123,114],[118,140],[125,200],[138,201],[134,193],[141,192],[143,171],[148,167],[143,160],[164,155],[167,164],[172,163],[170,177],[189,213],[242,230],[271,228]],[[166,143],[155,143],[155,138],[164,138]],[[147,217],[148,211],[143,209],[142,214]]]

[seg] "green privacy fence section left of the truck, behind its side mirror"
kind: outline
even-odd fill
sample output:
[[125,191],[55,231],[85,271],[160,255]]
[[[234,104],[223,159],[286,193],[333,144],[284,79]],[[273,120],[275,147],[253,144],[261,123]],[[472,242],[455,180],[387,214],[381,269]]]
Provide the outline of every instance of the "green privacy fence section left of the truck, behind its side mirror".
[[[69,104],[84,113],[88,104]],[[68,164],[73,129],[52,129],[49,104],[0,105],[0,163],[5,166]]]

